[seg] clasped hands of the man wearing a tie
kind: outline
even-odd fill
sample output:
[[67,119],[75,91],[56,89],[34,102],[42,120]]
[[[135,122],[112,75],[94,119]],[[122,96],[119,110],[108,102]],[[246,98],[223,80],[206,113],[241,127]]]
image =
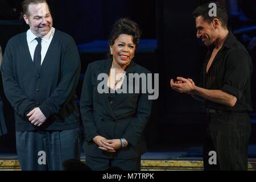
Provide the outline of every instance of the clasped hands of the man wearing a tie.
[[27,114],[28,120],[34,124],[35,126],[41,126],[46,121],[46,117],[39,109],[39,107],[35,107],[30,113]]

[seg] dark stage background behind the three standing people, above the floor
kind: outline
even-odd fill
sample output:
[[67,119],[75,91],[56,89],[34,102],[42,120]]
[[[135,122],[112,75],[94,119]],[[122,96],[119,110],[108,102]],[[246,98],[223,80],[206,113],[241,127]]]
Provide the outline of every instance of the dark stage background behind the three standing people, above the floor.
[[[2,1],[2,0],[0,0]],[[115,20],[128,17],[142,28],[142,39],[156,39],[154,51],[137,52],[135,61],[153,73],[159,73],[159,98],[154,101],[150,121],[146,126],[148,149],[151,151],[172,150],[183,145],[193,146],[203,143],[206,114],[200,102],[191,96],[177,93],[170,88],[170,78],[177,76],[192,78],[199,83],[199,73],[207,47],[196,38],[195,20],[192,11],[209,1],[168,1],[168,0],[94,0],[60,1],[48,0],[53,16],[53,27],[72,35],[77,44],[108,39]],[[229,1],[225,3],[229,11],[229,28],[236,31],[237,38],[245,45],[256,36],[255,29],[241,28],[256,26],[255,1],[238,1],[238,11]],[[234,2],[234,1],[230,1]],[[242,2],[242,3],[241,3]],[[19,3],[16,3],[19,4]],[[15,6],[15,3],[13,5]],[[16,5],[17,6],[17,5]],[[19,10],[20,7],[17,7]],[[0,11],[1,15],[1,11]],[[0,44],[4,49],[7,40],[26,31],[23,20],[0,20]],[[255,65],[256,49],[249,53]],[[81,52],[82,71],[95,60],[105,59],[107,52]],[[82,75],[77,87],[80,98]],[[255,67],[251,81],[251,94],[256,111]],[[15,151],[14,114],[6,100],[1,86],[5,119],[9,133],[0,140],[0,151]],[[250,143],[256,142],[255,114],[250,113],[253,124]],[[82,129],[82,127],[81,127]]]

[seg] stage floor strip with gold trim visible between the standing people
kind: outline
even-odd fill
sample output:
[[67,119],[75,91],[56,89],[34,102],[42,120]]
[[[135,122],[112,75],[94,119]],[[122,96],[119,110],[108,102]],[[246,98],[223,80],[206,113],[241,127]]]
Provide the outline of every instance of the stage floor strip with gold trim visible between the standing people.
[[[151,170],[203,170],[203,147],[176,148],[171,151],[148,151],[142,155],[141,169]],[[249,146],[248,169],[256,171],[256,144]],[[81,160],[85,161],[84,152]],[[0,154],[0,170],[20,170],[15,153]]]

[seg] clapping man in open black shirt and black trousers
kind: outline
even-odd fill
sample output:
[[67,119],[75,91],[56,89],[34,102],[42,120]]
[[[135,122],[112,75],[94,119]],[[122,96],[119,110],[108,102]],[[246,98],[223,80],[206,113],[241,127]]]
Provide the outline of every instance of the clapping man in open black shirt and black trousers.
[[[228,15],[218,3],[217,16],[209,16],[209,3],[193,12],[197,38],[209,52],[201,85],[190,78],[171,79],[172,89],[201,98],[207,107],[209,126],[204,143],[204,169],[246,170],[251,125],[250,78],[253,66],[249,53],[227,28]],[[210,165],[209,152],[217,154],[217,164]]]

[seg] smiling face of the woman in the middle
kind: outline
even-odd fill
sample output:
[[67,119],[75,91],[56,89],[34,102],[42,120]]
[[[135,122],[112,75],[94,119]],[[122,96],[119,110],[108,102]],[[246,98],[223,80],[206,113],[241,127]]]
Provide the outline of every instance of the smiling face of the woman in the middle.
[[134,57],[135,44],[133,43],[133,36],[121,34],[113,46],[110,46],[110,53],[113,55],[115,64],[120,65],[123,69],[129,65],[131,59]]

